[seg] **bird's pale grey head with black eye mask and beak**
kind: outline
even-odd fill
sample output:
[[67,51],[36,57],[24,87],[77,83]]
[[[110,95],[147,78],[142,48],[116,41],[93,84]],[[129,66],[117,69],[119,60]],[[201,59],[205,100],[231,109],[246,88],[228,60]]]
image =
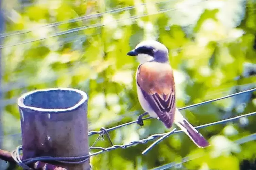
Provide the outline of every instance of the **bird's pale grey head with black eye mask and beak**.
[[155,40],[145,40],[140,42],[135,49],[128,52],[127,55],[137,56],[137,59],[141,64],[151,61],[160,63],[169,62],[168,49]]

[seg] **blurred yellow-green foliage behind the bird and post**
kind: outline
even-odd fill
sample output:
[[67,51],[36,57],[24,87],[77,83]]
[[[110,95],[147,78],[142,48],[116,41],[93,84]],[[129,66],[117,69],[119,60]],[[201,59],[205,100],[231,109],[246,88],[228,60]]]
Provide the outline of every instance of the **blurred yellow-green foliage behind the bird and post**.
[[[143,113],[134,81],[138,62],[126,54],[143,39],[156,39],[169,49],[178,107],[256,87],[255,0],[2,0],[2,10],[0,148],[9,151],[21,144],[16,100],[34,89],[87,92],[89,130],[136,120]],[[182,113],[196,126],[255,110],[256,92]],[[151,142],[94,156],[91,164],[95,170],[144,170],[200,153],[204,157],[192,156],[174,168],[256,169],[256,141],[233,142],[255,133],[255,123],[251,116],[200,129],[212,144],[207,149],[179,133],[147,155],[141,152]],[[168,131],[156,119],[144,124],[110,136],[123,144]],[[109,147],[109,142],[96,146]],[[2,161],[0,167],[8,165]]]

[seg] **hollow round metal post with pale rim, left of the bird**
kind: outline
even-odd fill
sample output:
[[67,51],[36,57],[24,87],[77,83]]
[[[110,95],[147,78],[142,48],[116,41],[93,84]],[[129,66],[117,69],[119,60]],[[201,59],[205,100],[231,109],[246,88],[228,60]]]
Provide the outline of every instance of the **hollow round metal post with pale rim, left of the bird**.
[[[35,90],[18,99],[23,159],[89,154],[87,94],[71,88]],[[52,163],[54,164],[54,163]],[[68,170],[89,170],[83,164],[55,164]]]

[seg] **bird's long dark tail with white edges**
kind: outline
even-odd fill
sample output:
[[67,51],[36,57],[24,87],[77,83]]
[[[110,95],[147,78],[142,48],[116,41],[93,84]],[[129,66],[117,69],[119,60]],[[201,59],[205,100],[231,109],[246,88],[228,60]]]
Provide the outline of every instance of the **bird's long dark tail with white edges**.
[[199,147],[199,148],[205,148],[209,146],[209,142],[200,134],[176,109],[175,112],[175,124],[181,128],[182,131],[184,131],[190,139]]

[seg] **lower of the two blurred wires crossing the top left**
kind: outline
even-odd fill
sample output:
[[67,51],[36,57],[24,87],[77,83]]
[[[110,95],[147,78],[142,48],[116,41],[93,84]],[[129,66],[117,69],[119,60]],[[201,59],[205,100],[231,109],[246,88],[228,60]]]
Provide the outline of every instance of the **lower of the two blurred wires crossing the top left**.
[[[202,2],[194,3],[191,6],[197,5],[199,3],[204,3],[206,1],[209,1],[209,0],[204,0]],[[131,17],[128,17],[128,18],[125,18],[125,19],[118,19],[118,20],[115,20],[113,22],[120,22],[120,21],[127,20],[127,19],[130,19],[130,20],[134,21],[134,20],[136,20],[138,18],[141,18],[141,17],[146,17],[146,16],[150,16],[150,15],[166,13],[166,12],[168,12],[170,10],[176,10],[176,9],[175,8],[160,9],[156,13],[143,14],[143,15],[135,15],[135,16],[131,16]],[[22,45],[22,44],[27,44],[27,43],[32,43],[32,42],[36,42],[36,41],[41,41],[41,40],[45,40],[45,39],[50,38],[50,37],[57,37],[57,36],[65,35],[65,34],[75,33],[75,32],[78,32],[78,31],[85,30],[85,29],[97,28],[97,27],[102,27],[102,26],[105,26],[105,24],[97,23],[97,24],[92,24],[92,25],[87,25],[87,26],[76,27],[76,28],[68,29],[66,31],[60,31],[58,33],[51,34],[48,37],[39,38],[39,39],[30,39],[28,41],[22,41],[22,42],[18,42],[18,43],[15,43],[15,44],[9,44],[9,45],[7,44],[5,46],[0,46],[0,49],[7,48],[7,47],[13,47],[13,46],[17,46],[17,45]]]

